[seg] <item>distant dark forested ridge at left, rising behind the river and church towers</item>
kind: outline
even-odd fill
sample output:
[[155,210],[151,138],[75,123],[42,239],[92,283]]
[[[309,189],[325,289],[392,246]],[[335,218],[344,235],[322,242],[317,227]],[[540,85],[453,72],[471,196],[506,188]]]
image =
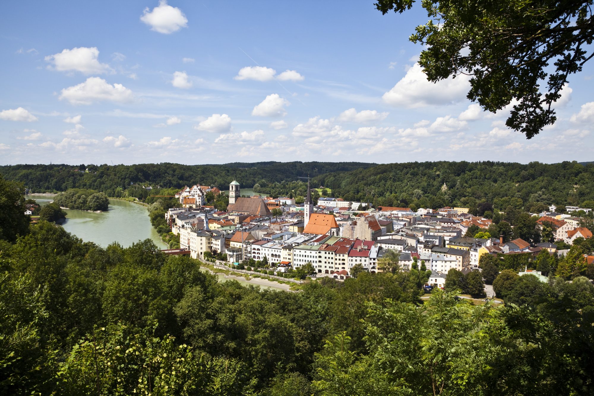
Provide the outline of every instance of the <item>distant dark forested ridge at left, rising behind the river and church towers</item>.
[[[298,177],[315,177],[327,172],[352,171],[376,164],[362,162],[257,162],[223,165],[139,164],[139,165],[7,165],[0,173],[7,180],[21,181],[36,192],[66,191],[89,188],[97,191],[126,188],[130,184],[160,187],[183,187],[195,183],[228,189],[233,179],[242,187],[253,187],[258,181],[269,183],[296,181]],[[88,168],[88,172],[86,169]]]

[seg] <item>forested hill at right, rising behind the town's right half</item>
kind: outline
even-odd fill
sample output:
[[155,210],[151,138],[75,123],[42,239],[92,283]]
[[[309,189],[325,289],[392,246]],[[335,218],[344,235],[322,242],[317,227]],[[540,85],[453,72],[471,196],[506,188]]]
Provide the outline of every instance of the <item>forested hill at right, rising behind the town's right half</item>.
[[[582,205],[594,200],[594,164],[513,162],[408,162],[314,178],[334,196],[385,206],[440,208],[489,202],[505,210],[532,203]],[[445,184],[445,187],[444,187]],[[521,200],[521,201],[520,201]]]

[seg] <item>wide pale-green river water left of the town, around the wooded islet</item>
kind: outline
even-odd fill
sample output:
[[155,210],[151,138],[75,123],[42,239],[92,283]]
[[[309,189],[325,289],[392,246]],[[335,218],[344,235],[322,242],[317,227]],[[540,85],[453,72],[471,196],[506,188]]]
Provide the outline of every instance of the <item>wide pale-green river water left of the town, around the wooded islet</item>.
[[[47,196],[26,197],[36,200],[39,205],[47,205],[52,201],[51,197]],[[160,249],[167,248],[150,224],[147,209],[142,205],[110,199],[108,212],[94,213],[72,209],[66,212],[66,221],[62,227],[83,241],[94,242],[103,247],[115,241],[128,247],[138,240],[150,238]]]

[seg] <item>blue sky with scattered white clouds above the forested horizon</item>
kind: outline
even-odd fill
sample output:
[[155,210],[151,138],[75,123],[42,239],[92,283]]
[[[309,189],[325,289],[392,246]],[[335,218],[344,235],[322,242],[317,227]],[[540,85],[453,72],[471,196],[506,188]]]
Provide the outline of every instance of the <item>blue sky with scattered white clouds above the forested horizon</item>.
[[[342,6],[342,7],[340,7]],[[0,164],[590,161],[594,69],[533,139],[430,84],[427,19],[373,1],[12,2],[0,14]]]

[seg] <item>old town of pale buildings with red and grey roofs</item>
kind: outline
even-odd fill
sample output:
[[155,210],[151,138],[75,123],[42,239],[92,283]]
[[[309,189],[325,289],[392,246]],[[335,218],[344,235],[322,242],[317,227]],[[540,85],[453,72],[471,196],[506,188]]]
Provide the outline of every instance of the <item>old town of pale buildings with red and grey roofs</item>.
[[[522,254],[527,266],[543,250],[567,253],[551,241],[571,246],[577,238],[592,237],[588,228],[580,227],[579,217],[557,213],[554,205],[530,213],[539,216],[538,232],[552,233],[545,235],[551,241],[531,244],[522,238],[511,239],[511,235],[489,233],[497,230],[492,219],[472,215],[469,208],[372,208],[369,203],[331,197],[320,197],[314,205],[309,181],[302,205],[290,197],[241,196],[241,186],[234,180],[229,185],[228,208],[220,211],[205,205],[208,191],[221,193],[216,187],[183,188],[175,196],[181,207],[165,213],[173,234],[179,235],[182,252],[194,259],[217,256],[230,266],[274,272],[308,266],[312,277],[339,281],[353,276],[355,267],[372,274],[384,271],[381,258],[393,250],[399,268],[424,266],[431,271],[429,287],[443,288],[450,269],[462,274],[481,271],[484,254],[505,260],[527,253]],[[591,209],[567,206],[565,212],[589,213]],[[594,260],[594,256],[584,256],[587,263]],[[546,280],[542,271],[521,274]]]

